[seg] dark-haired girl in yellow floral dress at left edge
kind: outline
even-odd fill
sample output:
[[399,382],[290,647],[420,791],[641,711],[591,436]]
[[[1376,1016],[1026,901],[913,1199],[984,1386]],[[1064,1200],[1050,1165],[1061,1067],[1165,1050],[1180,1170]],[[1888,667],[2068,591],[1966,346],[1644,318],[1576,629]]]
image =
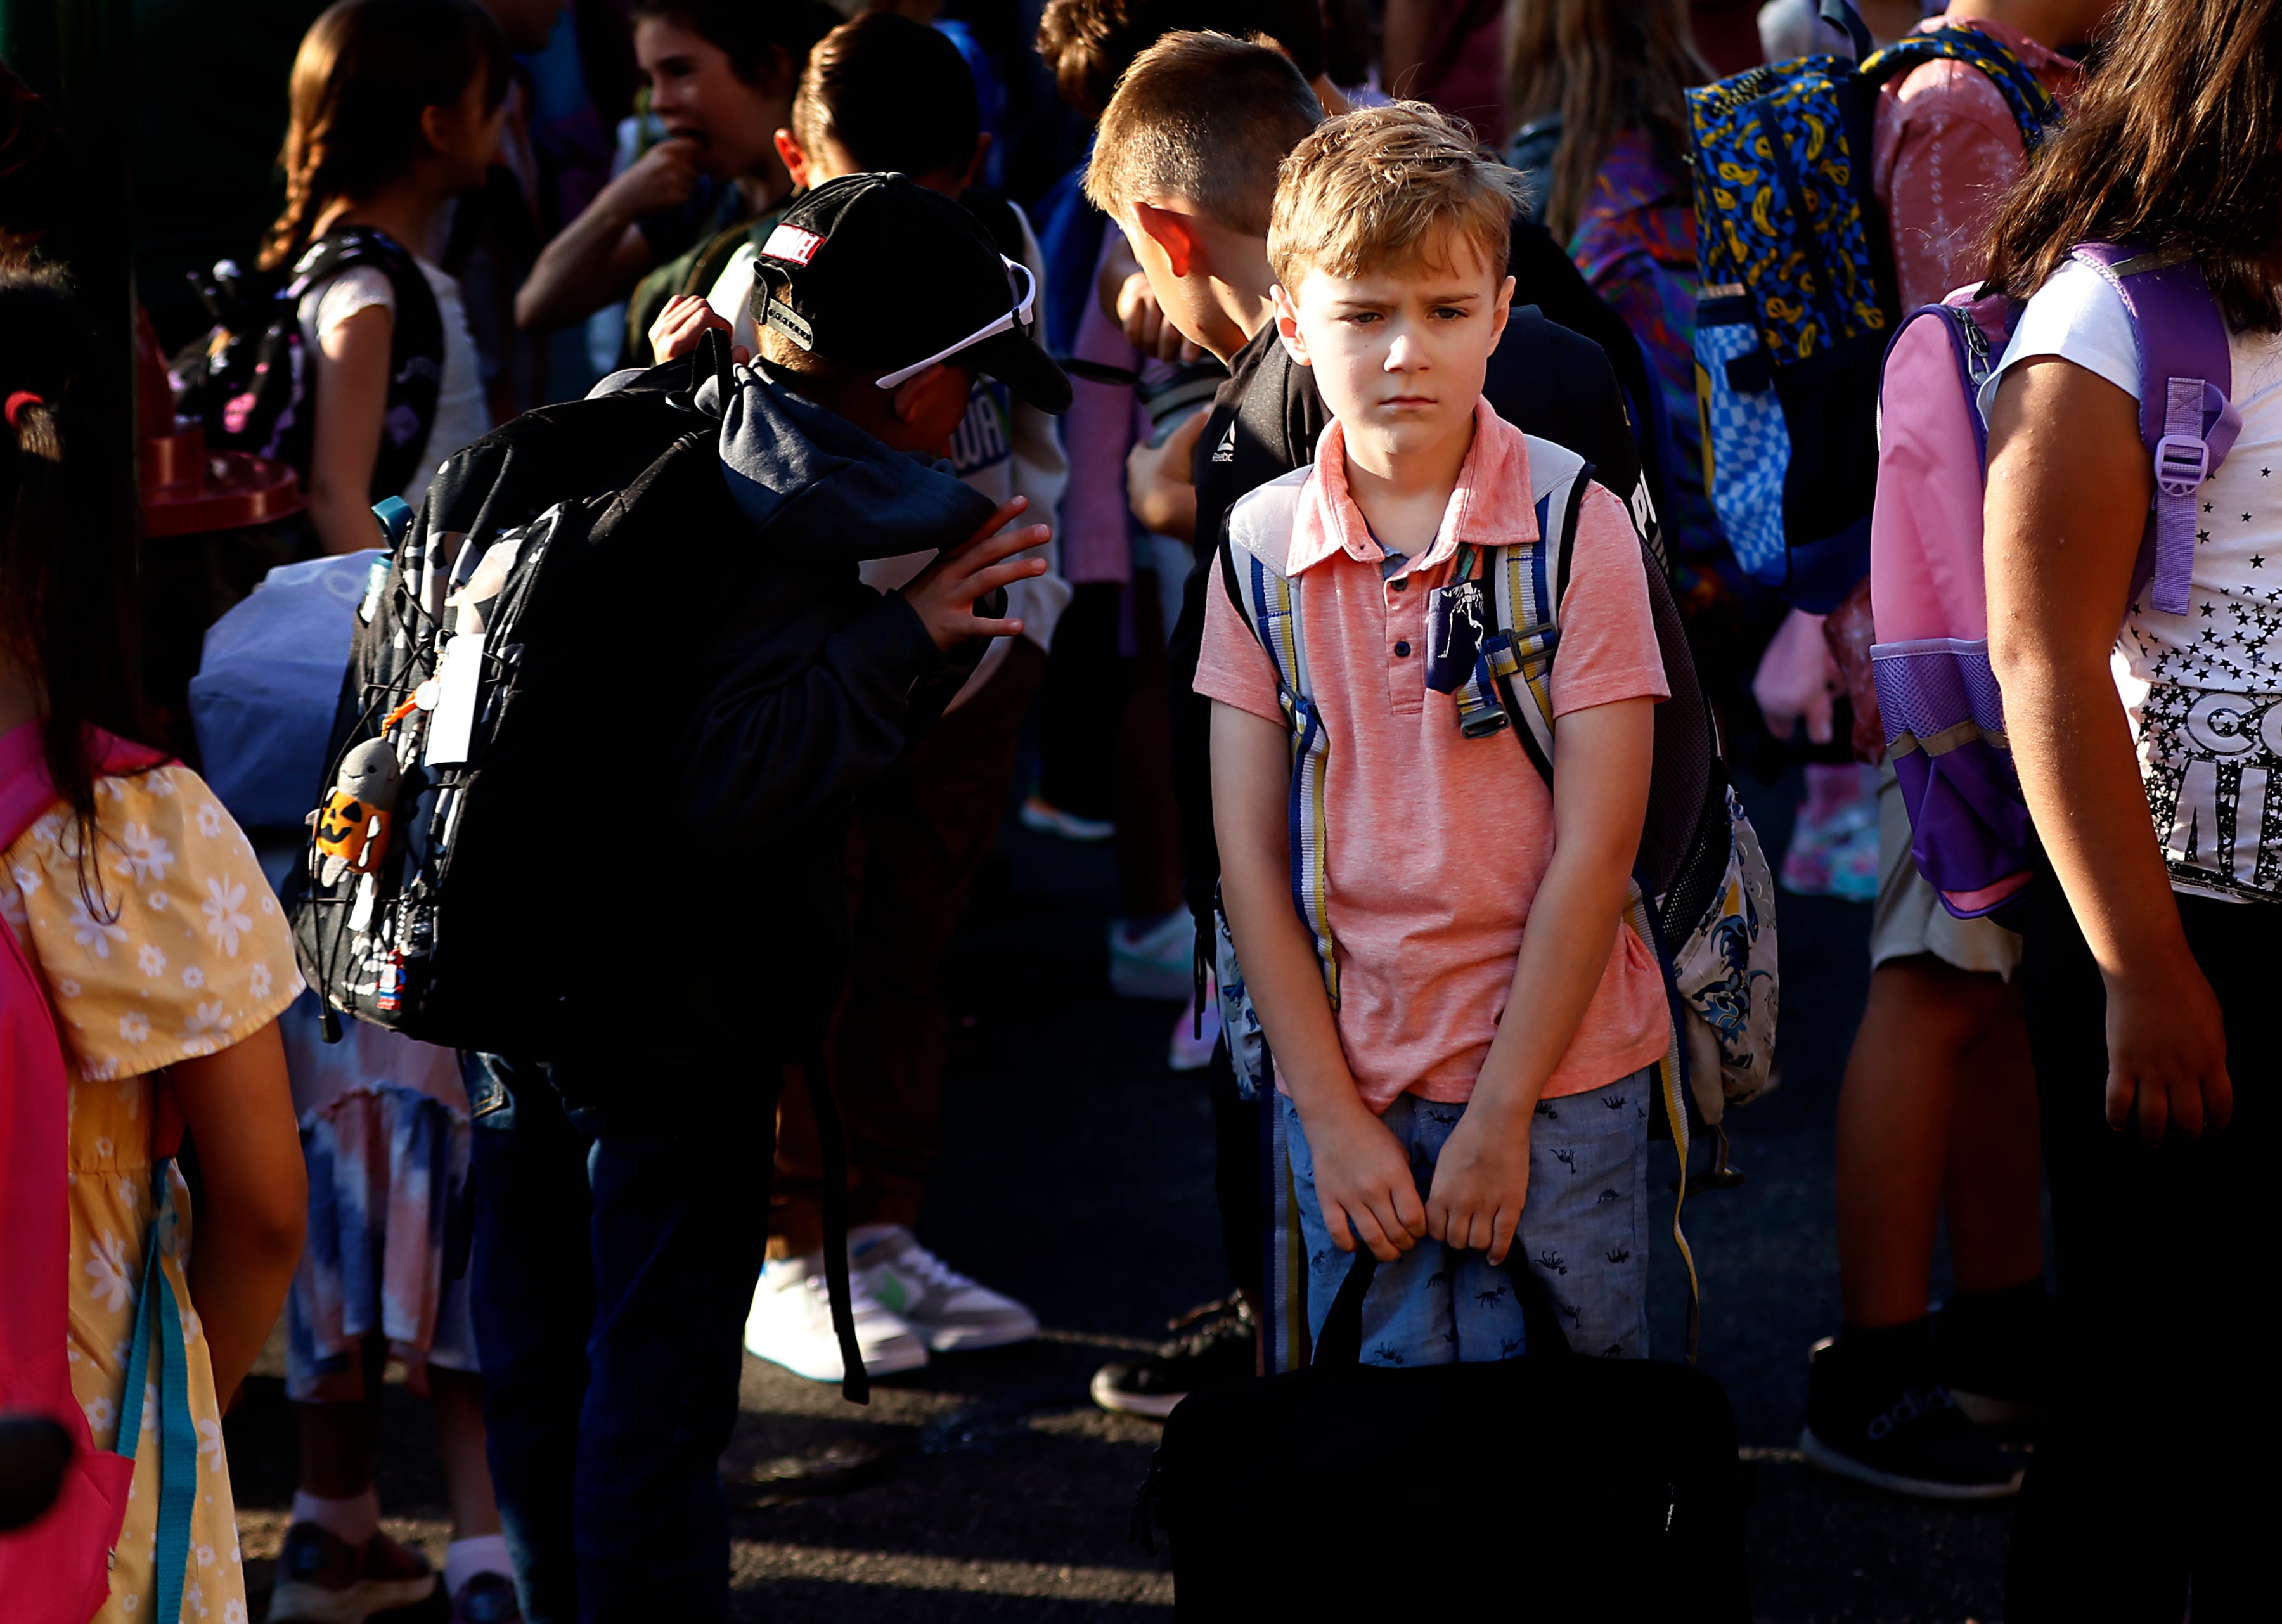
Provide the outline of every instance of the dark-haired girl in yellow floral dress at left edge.
[[[130,712],[126,538],[66,461],[84,322],[0,274],[0,919],[64,1040],[71,1387],[132,1455],[100,1624],[249,1624],[221,1412],[276,1323],[306,1204],[276,1015],[301,990],[246,837]],[[5,796],[0,796],[5,798]],[[21,823],[21,819],[16,819]],[[203,1207],[173,1166],[196,1140]],[[137,1380],[130,1391],[130,1371]]]

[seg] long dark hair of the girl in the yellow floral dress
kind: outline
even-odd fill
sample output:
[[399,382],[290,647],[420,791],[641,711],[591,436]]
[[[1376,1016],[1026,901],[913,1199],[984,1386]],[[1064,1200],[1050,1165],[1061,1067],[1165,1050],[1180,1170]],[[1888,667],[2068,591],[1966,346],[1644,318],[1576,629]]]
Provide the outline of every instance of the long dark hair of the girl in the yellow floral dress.
[[48,782],[80,830],[80,896],[110,917],[94,878],[96,773],[89,728],[132,737],[132,536],[121,504],[66,456],[71,385],[89,326],[55,267],[0,269],[0,664],[39,696]]

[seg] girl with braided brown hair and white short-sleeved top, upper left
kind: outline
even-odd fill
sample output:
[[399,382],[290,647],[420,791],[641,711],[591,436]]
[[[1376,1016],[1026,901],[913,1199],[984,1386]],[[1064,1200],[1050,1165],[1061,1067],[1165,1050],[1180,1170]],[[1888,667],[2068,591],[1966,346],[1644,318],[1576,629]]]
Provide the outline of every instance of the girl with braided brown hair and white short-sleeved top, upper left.
[[299,472],[329,552],[374,545],[370,506],[420,506],[438,463],[491,429],[459,283],[429,253],[450,203],[484,185],[507,75],[475,0],[340,0],[294,55],[285,210],[260,267],[301,274],[288,294],[315,415]]

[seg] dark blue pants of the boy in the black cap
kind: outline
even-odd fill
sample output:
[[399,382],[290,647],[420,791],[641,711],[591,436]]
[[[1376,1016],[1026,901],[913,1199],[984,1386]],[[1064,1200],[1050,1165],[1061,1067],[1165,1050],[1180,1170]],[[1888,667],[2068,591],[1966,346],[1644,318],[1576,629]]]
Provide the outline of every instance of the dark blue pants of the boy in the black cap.
[[548,1067],[461,1070],[484,1421],[523,1617],[723,1619],[714,1473],[767,1248],[776,1077],[575,1109]]

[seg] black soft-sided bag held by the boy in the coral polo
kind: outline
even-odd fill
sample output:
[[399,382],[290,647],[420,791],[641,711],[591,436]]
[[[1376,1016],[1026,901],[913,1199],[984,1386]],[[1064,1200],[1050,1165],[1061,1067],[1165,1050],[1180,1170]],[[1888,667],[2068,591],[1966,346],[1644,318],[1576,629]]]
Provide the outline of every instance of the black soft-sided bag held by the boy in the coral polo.
[[1136,1533],[1173,1537],[1178,1619],[1399,1617],[1497,1597],[1531,1619],[1750,1619],[1746,1478],[1709,1375],[1572,1355],[1520,1252],[1529,1353],[1360,1364],[1358,1252],[1314,1364],[1191,1394]]

